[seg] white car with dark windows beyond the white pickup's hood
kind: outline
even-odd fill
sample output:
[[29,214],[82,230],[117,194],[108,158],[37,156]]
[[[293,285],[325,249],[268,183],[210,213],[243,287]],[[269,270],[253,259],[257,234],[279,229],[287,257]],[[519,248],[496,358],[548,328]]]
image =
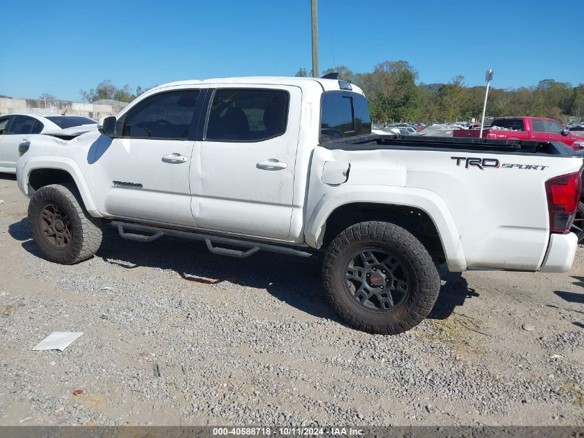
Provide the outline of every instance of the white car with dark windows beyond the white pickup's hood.
[[0,172],[15,173],[19,157],[18,145],[30,134],[62,131],[70,127],[95,125],[97,122],[82,116],[59,114],[4,114],[0,116]]

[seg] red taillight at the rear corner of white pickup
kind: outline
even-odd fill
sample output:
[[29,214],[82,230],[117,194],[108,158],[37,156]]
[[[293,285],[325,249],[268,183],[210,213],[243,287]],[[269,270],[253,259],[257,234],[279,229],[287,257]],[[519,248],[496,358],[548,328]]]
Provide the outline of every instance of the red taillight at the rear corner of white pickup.
[[582,191],[580,172],[556,176],[545,181],[549,232],[566,232],[572,227]]

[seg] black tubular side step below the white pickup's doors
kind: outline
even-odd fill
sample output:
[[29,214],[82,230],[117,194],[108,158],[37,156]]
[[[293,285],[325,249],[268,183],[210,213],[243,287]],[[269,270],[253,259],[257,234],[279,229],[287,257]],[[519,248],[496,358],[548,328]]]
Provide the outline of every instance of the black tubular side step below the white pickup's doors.
[[[160,239],[160,237],[162,236],[174,236],[182,237],[184,239],[201,240],[205,241],[205,244],[207,244],[207,249],[211,251],[211,253],[217,255],[226,255],[227,257],[236,257],[238,259],[243,259],[245,257],[249,257],[250,255],[254,255],[259,250],[269,251],[270,253],[295,255],[296,257],[310,257],[312,255],[312,253],[309,253],[308,251],[289,248],[288,246],[262,244],[254,241],[230,239],[229,237],[204,235],[198,232],[171,230],[168,228],[158,228],[153,226],[140,225],[138,223],[126,223],[120,221],[113,221],[110,224],[114,228],[117,228],[117,232],[120,233],[120,237],[122,237],[123,239],[149,242],[154,241],[156,239]],[[135,232],[126,232],[126,230],[147,232],[150,233],[150,235],[141,235],[136,234]],[[221,248],[219,246],[214,246],[214,244],[236,246],[245,248],[245,250]]]

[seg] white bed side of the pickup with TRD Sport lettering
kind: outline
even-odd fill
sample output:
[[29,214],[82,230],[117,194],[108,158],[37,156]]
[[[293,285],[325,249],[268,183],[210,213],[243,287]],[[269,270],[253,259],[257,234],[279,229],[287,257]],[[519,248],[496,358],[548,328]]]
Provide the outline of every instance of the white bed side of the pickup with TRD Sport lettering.
[[[563,143],[533,140],[333,140],[312,156],[308,217],[333,199],[348,203],[359,193],[359,201],[367,202],[365,190],[373,203],[382,199],[431,217],[451,271],[537,271],[551,236],[545,182],[578,172],[582,163]],[[346,169],[346,181],[326,183],[339,167]]]

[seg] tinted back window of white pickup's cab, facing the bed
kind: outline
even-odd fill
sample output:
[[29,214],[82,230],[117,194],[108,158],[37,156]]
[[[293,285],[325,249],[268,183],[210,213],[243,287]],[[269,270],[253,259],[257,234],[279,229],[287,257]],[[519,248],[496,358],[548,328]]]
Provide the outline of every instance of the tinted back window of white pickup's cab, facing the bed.
[[323,93],[321,142],[371,134],[371,116],[364,95],[348,91]]

